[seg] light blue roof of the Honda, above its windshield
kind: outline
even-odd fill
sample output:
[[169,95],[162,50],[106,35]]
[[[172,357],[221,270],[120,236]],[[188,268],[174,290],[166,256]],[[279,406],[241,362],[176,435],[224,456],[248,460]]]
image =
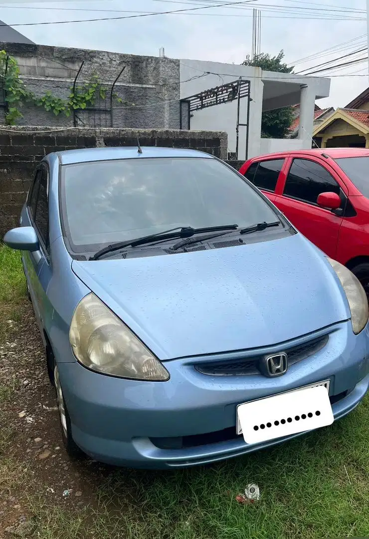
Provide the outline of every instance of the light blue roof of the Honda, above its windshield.
[[[62,165],[87,163],[88,161],[109,161],[115,159],[142,159],[145,157],[205,157],[214,158],[203,151],[187,148],[158,148],[156,146],[143,146],[142,153],[134,147],[105,147],[82,148],[80,150],[65,150],[56,152]],[[49,154],[50,155],[50,154]]]

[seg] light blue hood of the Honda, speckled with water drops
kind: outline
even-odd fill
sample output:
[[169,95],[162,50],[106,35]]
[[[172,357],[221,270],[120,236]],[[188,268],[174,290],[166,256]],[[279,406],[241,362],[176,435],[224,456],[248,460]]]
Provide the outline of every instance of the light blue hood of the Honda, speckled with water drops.
[[161,360],[273,345],[350,318],[338,278],[301,234],[74,273]]

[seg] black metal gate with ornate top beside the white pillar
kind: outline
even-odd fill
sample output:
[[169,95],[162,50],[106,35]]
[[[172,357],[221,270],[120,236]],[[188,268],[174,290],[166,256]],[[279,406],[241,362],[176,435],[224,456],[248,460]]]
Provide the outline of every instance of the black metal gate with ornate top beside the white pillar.
[[[247,98],[246,123],[240,122],[240,100]],[[180,129],[191,128],[191,118],[194,111],[202,110],[208,107],[230,103],[237,100],[237,118],[236,118],[236,159],[238,159],[239,148],[239,130],[240,127],[246,127],[246,159],[248,154],[248,124],[250,118],[250,81],[240,77],[232,82],[227,82],[221,86],[215,86],[198,94],[190,95],[188,98],[180,100]]]

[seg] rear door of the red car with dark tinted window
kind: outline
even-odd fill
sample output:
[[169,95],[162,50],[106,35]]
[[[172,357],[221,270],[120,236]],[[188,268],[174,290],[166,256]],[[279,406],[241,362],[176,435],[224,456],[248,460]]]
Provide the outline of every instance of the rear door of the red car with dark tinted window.
[[283,164],[284,157],[253,161],[243,176],[260,189],[271,202],[274,202],[274,191]]

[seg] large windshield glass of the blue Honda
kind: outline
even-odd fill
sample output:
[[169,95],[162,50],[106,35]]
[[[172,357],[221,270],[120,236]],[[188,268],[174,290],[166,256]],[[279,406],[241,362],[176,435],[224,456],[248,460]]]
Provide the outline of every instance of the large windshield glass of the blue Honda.
[[257,191],[215,159],[78,163],[64,165],[61,179],[62,218],[74,252],[181,226],[276,220]]

